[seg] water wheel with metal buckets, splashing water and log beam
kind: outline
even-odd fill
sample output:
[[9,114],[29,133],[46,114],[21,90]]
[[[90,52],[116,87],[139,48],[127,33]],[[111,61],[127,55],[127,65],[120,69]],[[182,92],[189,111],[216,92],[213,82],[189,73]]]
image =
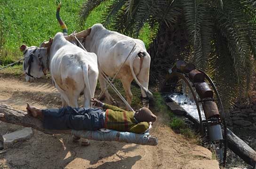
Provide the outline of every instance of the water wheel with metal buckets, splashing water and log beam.
[[255,167],[256,152],[227,129],[221,98],[211,78],[192,63],[177,61],[168,70],[160,91],[169,108],[187,117],[200,130],[203,145],[215,151],[225,166],[227,148]]

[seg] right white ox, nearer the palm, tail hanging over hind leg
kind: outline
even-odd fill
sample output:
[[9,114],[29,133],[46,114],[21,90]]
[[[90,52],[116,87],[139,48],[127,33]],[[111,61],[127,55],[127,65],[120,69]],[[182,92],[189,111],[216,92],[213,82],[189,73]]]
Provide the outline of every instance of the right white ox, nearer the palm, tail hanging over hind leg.
[[[98,67],[109,76],[113,77],[120,69],[128,54],[136,44],[134,50],[120,69],[117,78],[121,80],[127,101],[130,104],[132,100],[131,82],[135,79],[141,88],[142,101],[144,107],[148,107],[149,97],[152,93],[148,91],[150,55],[147,53],[142,40],[130,38],[116,31],[109,31],[102,24],[94,24],[88,28],[89,35],[83,39],[83,45],[88,52],[97,55]],[[80,40],[82,41],[82,40]],[[106,82],[100,74],[99,83],[101,91],[108,100],[113,98],[106,89]]]

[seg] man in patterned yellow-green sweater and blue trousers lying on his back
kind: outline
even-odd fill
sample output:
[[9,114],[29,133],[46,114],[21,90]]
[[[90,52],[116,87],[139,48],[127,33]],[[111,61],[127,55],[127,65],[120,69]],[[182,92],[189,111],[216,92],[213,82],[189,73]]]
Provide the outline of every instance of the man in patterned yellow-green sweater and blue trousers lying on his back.
[[39,109],[31,107],[27,103],[27,111],[34,117],[43,121],[46,129],[52,130],[89,130],[101,128],[116,131],[128,131],[143,133],[149,128],[149,122],[156,121],[148,108],[140,108],[135,112],[123,110],[92,98],[91,100],[99,108],[50,108]]

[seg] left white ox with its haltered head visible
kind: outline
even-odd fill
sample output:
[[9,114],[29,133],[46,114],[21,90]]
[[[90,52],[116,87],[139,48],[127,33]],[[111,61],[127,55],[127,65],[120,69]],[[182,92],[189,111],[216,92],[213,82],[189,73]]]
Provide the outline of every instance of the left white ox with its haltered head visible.
[[23,69],[27,76],[42,77],[50,70],[62,106],[79,107],[78,98],[84,95],[84,106],[90,106],[98,78],[97,56],[67,41],[63,33],[53,38],[50,50],[44,47],[21,46],[24,53]]

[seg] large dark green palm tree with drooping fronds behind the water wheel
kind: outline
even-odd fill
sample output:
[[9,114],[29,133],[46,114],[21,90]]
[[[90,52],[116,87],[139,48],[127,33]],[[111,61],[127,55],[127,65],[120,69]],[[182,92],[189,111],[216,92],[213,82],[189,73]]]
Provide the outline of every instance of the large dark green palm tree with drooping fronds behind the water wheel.
[[88,0],[81,26],[101,3],[103,24],[112,30],[136,38],[150,27],[151,82],[183,59],[208,72],[226,108],[247,93],[256,59],[255,0]]

